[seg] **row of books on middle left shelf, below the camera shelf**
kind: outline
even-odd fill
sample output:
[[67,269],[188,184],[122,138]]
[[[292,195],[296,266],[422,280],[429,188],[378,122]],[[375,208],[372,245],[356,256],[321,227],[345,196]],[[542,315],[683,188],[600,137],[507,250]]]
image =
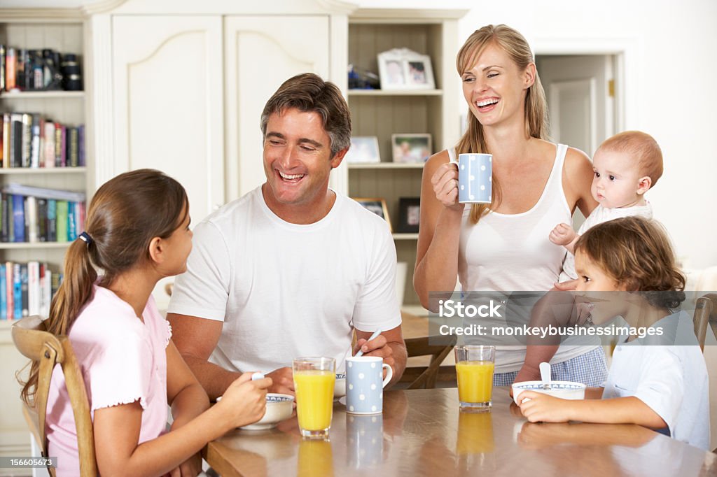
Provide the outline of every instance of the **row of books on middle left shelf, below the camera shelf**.
[[6,112],[0,143],[3,168],[85,165],[85,125],[62,125],[32,112]]

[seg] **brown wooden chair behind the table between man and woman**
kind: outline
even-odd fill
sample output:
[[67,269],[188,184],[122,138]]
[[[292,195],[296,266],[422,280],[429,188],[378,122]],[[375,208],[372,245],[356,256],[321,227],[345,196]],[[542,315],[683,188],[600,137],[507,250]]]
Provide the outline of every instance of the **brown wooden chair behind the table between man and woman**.
[[[406,367],[399,382],[409,382],[406,389],[432,389],[436,387],[437,381],[455,380],[455,366],[441,366],[445,357],[455,346],[455,335],[450,337],[449,344],[429,344],[432,337],[418,337],[404,339],[408,357],[430,356],[428,366]],[[448,337],[435,337],[435,339],[448,339]]]

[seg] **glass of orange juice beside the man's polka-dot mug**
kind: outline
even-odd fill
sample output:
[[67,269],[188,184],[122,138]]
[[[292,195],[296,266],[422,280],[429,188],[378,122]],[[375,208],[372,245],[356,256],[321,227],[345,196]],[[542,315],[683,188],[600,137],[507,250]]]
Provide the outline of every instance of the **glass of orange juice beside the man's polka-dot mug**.
[[296,414],[305,438],[328,438],[333,415],[336,360],[301,357],[293,361]]

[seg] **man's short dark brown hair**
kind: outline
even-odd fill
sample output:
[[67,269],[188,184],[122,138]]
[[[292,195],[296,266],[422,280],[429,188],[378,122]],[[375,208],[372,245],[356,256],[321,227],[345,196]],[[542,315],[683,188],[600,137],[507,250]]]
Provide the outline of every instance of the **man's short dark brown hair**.
[[269,116],[295,107],[303,112],[316,112],[331,140],[331,157],[351,146],[351,112],[341,90],[318,74],[303,73],[289,78],[269,98],[262,111],[261,129],[266,136]]

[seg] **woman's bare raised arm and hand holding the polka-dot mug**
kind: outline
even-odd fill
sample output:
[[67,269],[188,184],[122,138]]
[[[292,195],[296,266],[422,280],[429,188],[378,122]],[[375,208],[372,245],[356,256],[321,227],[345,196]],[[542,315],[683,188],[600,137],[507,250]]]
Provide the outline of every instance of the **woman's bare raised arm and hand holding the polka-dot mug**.
[[[421,183],[421,225],[413,286],[424,308],[429,291],[453,291],[458,276],[458,242],[463,204],[458,171],[442,151],[427,161]],[[436,310],[434,310],[436,311]]]

